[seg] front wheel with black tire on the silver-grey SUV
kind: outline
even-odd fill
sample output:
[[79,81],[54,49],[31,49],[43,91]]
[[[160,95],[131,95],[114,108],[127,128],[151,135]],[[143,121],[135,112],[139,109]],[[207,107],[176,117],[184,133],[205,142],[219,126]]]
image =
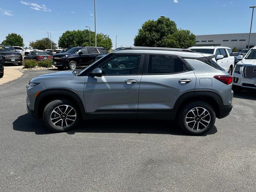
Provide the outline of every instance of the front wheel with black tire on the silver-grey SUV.
[[[69,106],[67,109],[65,108],[66,105]],[[76,115],[76,117],[71,115]],[[48,103],[43,110],[43,121],[51,131],[55,132],[63,132],[75,128],[79,121],[79,116],[77,105],[65,99],[53,100]],[[53,123],[55,123],[56,126]]]

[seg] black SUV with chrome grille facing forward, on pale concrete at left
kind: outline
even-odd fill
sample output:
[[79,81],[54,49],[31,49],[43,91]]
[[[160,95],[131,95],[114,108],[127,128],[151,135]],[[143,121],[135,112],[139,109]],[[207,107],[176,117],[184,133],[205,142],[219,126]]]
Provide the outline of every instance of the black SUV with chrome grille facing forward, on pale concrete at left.
[[0,46],[0,55],[2,56],[4,65],[18,64],[22,65],[22,55],[12,46]]

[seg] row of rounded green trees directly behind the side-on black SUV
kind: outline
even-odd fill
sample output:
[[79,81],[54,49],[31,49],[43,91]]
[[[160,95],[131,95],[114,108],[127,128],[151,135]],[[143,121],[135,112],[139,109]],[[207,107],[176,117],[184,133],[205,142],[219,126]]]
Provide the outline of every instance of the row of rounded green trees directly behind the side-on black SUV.
[[[89,30],[73,30],[64,32],[59,38],[58,45],[63,48],[77,46],[94,46],[95,32],[91,31],[91,43]],[[112,40],[108,35],[97,33],[97,46],[104,47],[107,50],[112,48]]]

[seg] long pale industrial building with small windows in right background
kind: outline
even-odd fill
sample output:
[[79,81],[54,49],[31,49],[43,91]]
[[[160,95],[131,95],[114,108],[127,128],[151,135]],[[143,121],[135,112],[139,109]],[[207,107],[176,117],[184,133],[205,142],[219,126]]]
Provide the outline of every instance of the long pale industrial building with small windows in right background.
[[[195,46],[227,46],[238,50],[248,48],[250,33],[232,33],[217,35],[196,35]],[[256,45],[256,33],[251,33],[250,48]]]

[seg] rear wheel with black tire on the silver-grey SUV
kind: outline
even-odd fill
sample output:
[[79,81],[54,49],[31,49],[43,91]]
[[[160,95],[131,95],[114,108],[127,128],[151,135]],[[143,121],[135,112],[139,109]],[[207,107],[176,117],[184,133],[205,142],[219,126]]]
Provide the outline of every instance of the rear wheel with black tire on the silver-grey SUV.
[[[197,108],[198,111],[193,111],[193,112],[198,112],[198,114],[199,114],[198,115],[195,113],[195,118],[193,117],[194,116],[193,112],[190,112],[190,110],[193,110],[194,108]],[[205,114],[202,113],[202,111],[204,111],[204,109],[207,110],[207,112],[205,112]],[[192,117],[187,117],[190,115],[192,115]],[[202,117],[202,115],[204,115],[204,116]],[[190,119],[192,121],[195,121],[195,124],[194,124],[194,122],[191,122],[191,123],[188,123],[188,125],[187,125],[186,119],[187,119],[187,122],[190,122]],[[190,135],[202,135],[202,134],[206,133],[207,131],[209,131],[211,128],[213,128],[215,120],[216,120],[216,115],[215,115],[214,109],[211,107],[211,105],[206,102],[197,101],[197,102],[192,102],[192,103],[187,104],[182,107],[182,110],[180,111],[178,123],[180,125],[180,128],[183,131],[185,131],[186,133],[188,133]],[[209,121],[209,123],[207,123],[206,121]],[[199,126],[197,126],[197,124]],[[204,124],[204,126],[202,124]],[[196,125],[196,127],[194,127],[195,125]],[[192,129],[189,126],[192,127]],[[197,127],[198,127],[198,130],[196,130]]]

